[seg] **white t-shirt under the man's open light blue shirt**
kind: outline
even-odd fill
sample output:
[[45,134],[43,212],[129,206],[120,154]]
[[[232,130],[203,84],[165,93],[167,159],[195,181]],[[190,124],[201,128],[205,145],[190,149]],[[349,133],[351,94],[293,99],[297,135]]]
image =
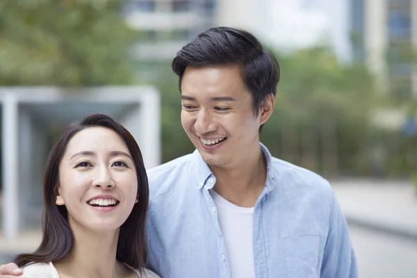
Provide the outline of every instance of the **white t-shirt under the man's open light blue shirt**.
[[218,206],[218,220],[229,255],[231,278],[255,278],[254,208],[236,206],[215,190],[209,191]]

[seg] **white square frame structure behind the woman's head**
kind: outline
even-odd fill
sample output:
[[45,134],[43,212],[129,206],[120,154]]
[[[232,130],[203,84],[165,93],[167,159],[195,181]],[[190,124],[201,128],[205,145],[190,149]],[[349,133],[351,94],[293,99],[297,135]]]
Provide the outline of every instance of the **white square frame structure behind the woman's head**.
[[[0,104],[5,239],[17,238],[31,211],[40,214],[51,129],[90,113],[107,113],[138,141],[147,168],[161,163],[160,97],[153,87],[0,88]],[[38,203],[31,204],[33,199]]]

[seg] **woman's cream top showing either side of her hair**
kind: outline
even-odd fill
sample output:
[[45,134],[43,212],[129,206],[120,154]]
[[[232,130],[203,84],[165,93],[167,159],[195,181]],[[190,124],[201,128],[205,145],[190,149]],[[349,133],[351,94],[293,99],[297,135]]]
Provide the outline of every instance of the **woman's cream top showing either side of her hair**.
[[[131,268],[129,265],[126,265]],[[140,278],[161,278],[148,269],[134,270]],[[53,263],[31,263],[23,267],[23,277],[28,278],[59,278],[58,271]]]

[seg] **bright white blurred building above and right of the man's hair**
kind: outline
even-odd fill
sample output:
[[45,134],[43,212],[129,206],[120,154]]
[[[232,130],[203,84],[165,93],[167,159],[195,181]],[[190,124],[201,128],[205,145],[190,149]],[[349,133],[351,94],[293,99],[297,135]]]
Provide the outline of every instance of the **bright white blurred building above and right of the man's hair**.
[[339,60],[348,61],[348,8],[344,0],[222,0],[217,23],[245,28],[272,49],[327,45]]

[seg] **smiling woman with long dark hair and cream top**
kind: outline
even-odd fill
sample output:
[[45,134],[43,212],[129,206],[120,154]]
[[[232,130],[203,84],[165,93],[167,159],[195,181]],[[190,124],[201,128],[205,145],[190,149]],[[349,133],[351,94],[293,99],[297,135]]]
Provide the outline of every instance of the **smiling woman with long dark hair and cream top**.
[[158,277],[145,269],[148,184],[133,136],[104,114],[70,124],[47,160],[42,242],[25,277]]

